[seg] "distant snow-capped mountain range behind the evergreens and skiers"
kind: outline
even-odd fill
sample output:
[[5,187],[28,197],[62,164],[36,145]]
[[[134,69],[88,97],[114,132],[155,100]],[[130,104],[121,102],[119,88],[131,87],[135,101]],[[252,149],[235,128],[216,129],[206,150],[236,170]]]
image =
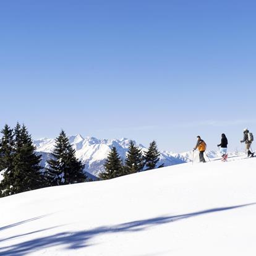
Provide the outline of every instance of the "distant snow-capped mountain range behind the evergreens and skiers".
[[[103,164],[108,156],[111,148],[116,147],[119,155],[124,160],[129,148],[129,139],[96,139],[95,137],[85,137],[78,134],[69,137],[69,142],[76,150],[76,156],[82,163],[85,164],[85,171],[93,176],[98,176],[104,170]],[[36,151],[42,155],[42,166],[46,166],[46,161],[50,157],[51,151],[54,148],[54,139],[39,139],[33,141],[36,146]],[[142,144],[137,144],[143,151],[147,151],[147,148]],[[171,166],[174,164],[181,164],[192,161],[193,152],[188,151],[184,153],[173,153],[171,151],[160,152],[160,164],[164,166]],[[234,153],[232,153],[234,154]],[[232,155],[231,154],[231,155]],[[209,158],[216,158],[219,156],[217,151],[208,151],[207,156]],[[195,153],[194,160],[198,161],[198,154]]]

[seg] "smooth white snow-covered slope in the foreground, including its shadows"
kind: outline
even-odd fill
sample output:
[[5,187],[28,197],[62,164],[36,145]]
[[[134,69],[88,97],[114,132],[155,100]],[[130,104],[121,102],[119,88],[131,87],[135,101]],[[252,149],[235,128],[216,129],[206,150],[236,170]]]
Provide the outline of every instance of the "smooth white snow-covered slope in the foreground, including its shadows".
[[0,198],[0,255],[256,255],[256,159]]

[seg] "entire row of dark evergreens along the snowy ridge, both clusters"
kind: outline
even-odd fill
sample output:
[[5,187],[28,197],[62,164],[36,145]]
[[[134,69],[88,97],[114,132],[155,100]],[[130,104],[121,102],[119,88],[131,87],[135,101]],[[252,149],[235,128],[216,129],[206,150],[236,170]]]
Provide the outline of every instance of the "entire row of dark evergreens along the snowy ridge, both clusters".
[[[84,165],[75,157],[75,149],[70,145],[64,130],[61,130],[59,137],[55,139],[54,150],[46,167],[40,166],[41,155],[36,153],[32,137],[25,125],[20,126],[18,122],[15,128],[11,129],[6,124],[1,134],[0,197],[43,187],[91,181],[83,173]],[[100,174],[100,179],[112,179],[155,169],[159,156],[155,141],[150,143],[145,153],[130,141],[124,163],[113,147],[104,165],[105,172]]]

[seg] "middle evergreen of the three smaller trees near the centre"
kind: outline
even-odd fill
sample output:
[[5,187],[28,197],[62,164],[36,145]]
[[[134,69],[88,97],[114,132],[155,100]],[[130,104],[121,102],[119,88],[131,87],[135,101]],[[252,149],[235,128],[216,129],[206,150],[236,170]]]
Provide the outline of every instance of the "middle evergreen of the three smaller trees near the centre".
[[144,167],[142,150],[136,147],[134,142],[131,140],[129,144],[129,150],[126,155],[126,174],[138,173],[142,171]]

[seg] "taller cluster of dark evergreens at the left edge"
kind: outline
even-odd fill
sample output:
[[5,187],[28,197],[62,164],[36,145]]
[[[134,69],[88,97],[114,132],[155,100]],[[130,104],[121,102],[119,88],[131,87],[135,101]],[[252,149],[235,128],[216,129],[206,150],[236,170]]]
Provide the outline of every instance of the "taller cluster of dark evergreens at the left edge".
[[14,129],[6,125],[1,134],[0,197],[42,187],[87,181],[83,173],[84,166],[75,158],[75,149],[63,130],[55,140],[47,168],[40,166],[41,155],[36,154],[27,127],[20,126],[19,122]]

